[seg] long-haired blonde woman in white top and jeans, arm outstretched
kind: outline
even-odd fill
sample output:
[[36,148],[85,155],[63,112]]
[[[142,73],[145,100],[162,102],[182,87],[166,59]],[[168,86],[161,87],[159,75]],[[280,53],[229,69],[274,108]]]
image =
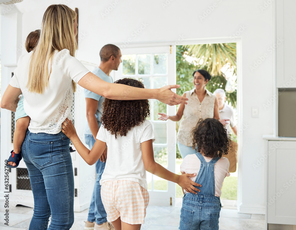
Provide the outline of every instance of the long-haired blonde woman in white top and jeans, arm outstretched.
[[[22,144],[34,196],[34,214],[29,229],[70,229],[74,221],[74,178],[70,139],[61,124],[71,119],[76,83],[105,98],[135,100],[155,98],[169,105],[186,104],[165,86],[142,89],[111,84],[89,72],[75,57],[77,21],[75,12],[65,5],[51,5],[43,16],[36,50],[18,61],[1,108],[15,111],[22,93],[25,112],[31,121]],[[120,57],[114,57],[120,62]]]

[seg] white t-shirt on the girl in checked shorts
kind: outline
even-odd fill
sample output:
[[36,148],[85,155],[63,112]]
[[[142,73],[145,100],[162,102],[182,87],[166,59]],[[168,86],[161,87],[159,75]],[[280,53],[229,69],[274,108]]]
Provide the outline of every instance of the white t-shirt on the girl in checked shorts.
[[146,170],[143,163],[141,143],[154,142],[152,124],[144,120],[139,126],[131,128],[126,136],[110,134],[100,127],[96,139],[106,142],[108,147],[107,160],[100,184],[108,180],[131,180],[138,182],[147,190]]

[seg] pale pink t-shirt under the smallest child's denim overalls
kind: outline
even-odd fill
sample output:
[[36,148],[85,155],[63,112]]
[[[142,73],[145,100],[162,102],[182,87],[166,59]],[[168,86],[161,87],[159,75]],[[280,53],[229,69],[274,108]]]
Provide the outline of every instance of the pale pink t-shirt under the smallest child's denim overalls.
[[[211,157],[204,157],[206,162],[212,160]],[[184,160],[180,166],[181,172],[185,173],[196,173],[196,176],[189,177],[191,180],[195,181],[198,172],[200,171],[200,159],[195,154],[190,154],[184,157]],[[229,177],[229,160],[226,157],[221,157],[214,166],[215,175],[215,196],[221,196],[222,183],[225,177]],[[198,181],[197,181],[198,183]],[[184,190],[185,193],[187,193]]]

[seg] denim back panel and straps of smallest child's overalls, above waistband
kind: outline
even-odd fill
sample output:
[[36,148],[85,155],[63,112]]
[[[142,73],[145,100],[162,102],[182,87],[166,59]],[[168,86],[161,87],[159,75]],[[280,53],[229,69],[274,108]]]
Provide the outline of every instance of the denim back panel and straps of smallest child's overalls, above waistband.
[[195,183],[201,184],[199,195],[215,196],[215,175],[214,166],[219,157],[213,158],[210,162],[206,162],[200,152],[195,154],[200,159],[200,171],[197,174]]

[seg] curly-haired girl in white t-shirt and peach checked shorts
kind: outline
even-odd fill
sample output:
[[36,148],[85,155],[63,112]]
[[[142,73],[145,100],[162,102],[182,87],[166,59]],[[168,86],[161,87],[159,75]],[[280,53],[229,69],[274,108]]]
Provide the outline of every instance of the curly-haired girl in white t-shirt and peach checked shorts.
[[[138,80],[124,78],[115,82],[144,88]],[[130,93],[130,92],[127,92]],[[72,122],[62,124],[62,132],[73,142],[77,152],[89,165],[93,165],[108,146],[108,158],[100,180],[102,203],[107,220],[115,229],[140,229],[144,224],[149,202],[146,170],[158,177],[178,183],[187,192],[200,191],[201,186],[189,177],[177,175],[154,160],[152,142],[155,140],[148,100],[116,101],[106,98],[101,117],[102,126],[91,150],[79,139]]]

